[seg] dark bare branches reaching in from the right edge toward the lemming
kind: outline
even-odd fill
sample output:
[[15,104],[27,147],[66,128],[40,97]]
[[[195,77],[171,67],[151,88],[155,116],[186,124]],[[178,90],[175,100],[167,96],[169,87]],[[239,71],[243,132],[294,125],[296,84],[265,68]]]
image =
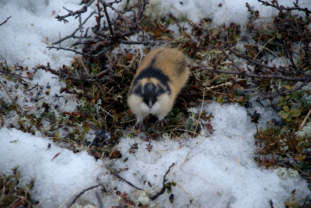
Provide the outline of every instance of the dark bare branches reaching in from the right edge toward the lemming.
[[[258,0],[258,1],[260,1],[260,0]],[[260,2],[263,2],[263,1],[260,1]],[[297,4],[297,2],[296,2],[296,4]],[[264,3],[266,3],[266,2],[264,2]],[[291,24],[291,27],[293,28],[296,36],[302,40],[303,44],[305,45],[305,47],[303,47],[303,49],[306,52],[305,57],[302,57],[302,61],[304,63],[304,65],[302,65],[302,66],[310,67],[311,61],[309,60],[309,55],[310,55],[309,43],[311,41],[311,38],[307,35],[309,30],[305,29],[306,32],[301,33],[301,30],[297,29],[297,27],[295,27],[291,23],[291,20],[284,14],[284,12],[282,12],[282,9],[284,7],[279,6],[277,4],[277,1],[272,1],[272,4],[273,4],[273,7],[277,8],[280,11],[283,18],[289,24]],[[248,6],[248,8],[250,8],[249,5],[247,5],[247,6]],[[269,6],[271,6],[271,5],[269,4]],[[295,9],[297,9],[297,8],[295,8]],[[252,11],[252,10],[249,10],[249,11]],[[303,82],[303,84],[301,84],[298,87],[295,87],[294,89],[291,89],[291,90],[284,90],[282,92],[277,91],[276,93],[266,93],[266,94],[264,92],[262,92],[262,94],[265,94],[263,97],[266,97],[266,98],[272,98],[272,97],[275,97],[278,95],[283,95],[286,93],[295,92],[295,91],[301,89],[305,84],[307,84],[311,80],[310,74],[304,73],[302,70],[300,70],[295,65],[295,62],[293,60],[292,49],[290,49],[290,45],[289,45],[290,41],[288,40],[287,37],[285,37],[285,34],[283,32],[280,32],[280,33],[281,33],[281,36],[285,42],[284,47],[286,48],[286,51],[289,54],[289,59],[290,59],[292,65],[289,65],[289,66],[276,66],[276,65],[268,66],[267,64],[264,64],[261,61],[258,61],[257,59],[252,58],[246,54],[242,55],[241,53],[234,51],[233,49],[231,49],[230,47],[228,47],[226,45],[225,41],[222,41],[222,40],[218,39],[216,36],[212,35],[208,28],[205,29],[205,28],[199,26],[198,24],[194,23],[191,20],[189,20],[189,22],[191,24],[193,24],[194,26],[196,26],[197,28],[199,28],[200,30],[206,32],[213,40],[215,40],[216,41],[215,47],[217,47],[221,52],[223,52],[225,57],[229,61],[231,61],[231,65],[234,66],[237,70],[236,71],[219,70],[219,69],[217,69],[216,65],[214,65],[213,68],[207,68],[207,67],[204,67],[203,65],[199,65],[199,66],[189,65],[191,68],[200,68],[201,70],[208,70],[208,71],[215,72],[215,73],[233,74],[233,75],[239,75],[239,76],[252,77],[255,79],[282,79],[285,81],[295,81],[295,82],[301,81],[301,82]],[[277,25],[276,27],[279,29],[279,31],[282,31],[282,28],[279,25]],[[302,36],[302,35],[304,35],[304,36]],[[244,70],[244,68],[240,68],[240,66],[237,65],[237,63],[230,57],[230,55],[229,55],[230,53],[229,54],[227,53],[228,51],[230,53],[233,53],[236,57],[239,57],[239,58],[242,58],[242,59],[248,61],[248,63],[247,63],[248,70],[249,70],[248,65],[254,65],[254,66],[258,66],[258,67],[262,67],[263,69],[266,69],[266,72],[265,72],[266,74],[249,73],[247,70]],[[303,76],[301,76],[301,75],[303,75]],[[275,86],[275,88],[277,89],[277,86]]]

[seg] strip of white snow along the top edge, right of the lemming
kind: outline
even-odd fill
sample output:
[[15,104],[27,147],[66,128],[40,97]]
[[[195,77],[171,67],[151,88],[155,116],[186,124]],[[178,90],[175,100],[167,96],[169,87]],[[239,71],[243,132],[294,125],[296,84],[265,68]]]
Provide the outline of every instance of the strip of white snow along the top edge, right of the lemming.
[[[248,8],[245,6],[246,2],[248,2],[249,6],[253,7],[254,11],[258,10],[260,16],[271,17],[276,12],[275,9],[263,6],[262,3],[256,0],[165,0],[165,2],[168,2],[171,5],[169,13],[177,18],[186,16],[188,19],[193,20],[193,22],[199,22],[201,18],[208,18],[213,20],[213,24],[217,26],[222,24],[229,26],[231,23],[244,25],[250,17],[249,12],[247,11]],[[270,1],[268,2],[270,3]],[[278,2],[279,5],[293,6],[293,1],[291,0],[279,0]],[[302,8],[309,8],[311,2],[308,0],[300,0],[299,6]]]

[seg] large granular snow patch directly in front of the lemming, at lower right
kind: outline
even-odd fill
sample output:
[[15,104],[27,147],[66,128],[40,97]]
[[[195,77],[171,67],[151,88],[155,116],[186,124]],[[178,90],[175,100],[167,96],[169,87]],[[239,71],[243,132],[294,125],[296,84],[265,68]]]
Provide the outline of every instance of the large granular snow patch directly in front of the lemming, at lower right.
[[[256,106],[256,109],[262,113],[258,128],[264,126],[264,120],[276,116],[272,111],[264,112],[262,107]],[[144,181],[156,185],[156,190],[161,188],[164,173],[175,163],[168,178],[180,187],[172,188],[174,205],[167,203],[170,194],[165,192],[159,197],[158,202],[165,207],[183,207],[190,199],[194,199],[193,206],[204,207],[226,207],[229,201],[231,207],[269,207],[270,200],[275,207],[282,207],[297,187],[296,197],[310,194],[305,181],[281,179],[276,170],[257,167],[252,159],[255,156],[253,135],[257,128],[248,119],[244,107],[213,103],[204,106],[203,111],[214,116],[211,125],[216,131],[209,136],[203,133],[193,139],[153,140],[150,152],[146,150],[144,139],[121,139],[118,145],[122,148],[121,154],[128,157],[126,162],[121,160],[114,164],[119,169],[128,168],[121,176],[152,192],[154,190],[147,183],[144,185]],[[132,154],[128,150],[135,142],[138,150]],[[118,184],[119,191],[128,193],[131,189],[126,183],[122,187]]]

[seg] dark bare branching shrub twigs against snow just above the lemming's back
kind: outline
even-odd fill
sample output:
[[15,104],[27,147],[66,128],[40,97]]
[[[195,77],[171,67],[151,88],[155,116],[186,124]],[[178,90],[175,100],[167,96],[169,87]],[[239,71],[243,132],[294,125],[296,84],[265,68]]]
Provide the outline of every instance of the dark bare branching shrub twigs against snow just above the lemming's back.
[[[97,15],[95,16],[96,24],[94,27],[92,27],[92,31],[95,34],[94,38],[87,37],[86,33],[83,35],[84,32],[82,28],[86,20],[84,20],[83,22],[81,21],[81,14],[83,12],[86,12],[87,7],[89,7],[91,5],[91,2],[94,2],[94,0],[87,2],[84,7],[82,7],[80,10],[75,11],[75,12],[65,8],[68,11],[68,14],[65,16],[57,16],[56,18],[59,21],[63,20],[64,22],[66,22],[67,21],[65,19],[66,17],[75,16],[75,18],[79,18],[79,26],[72,32],[72,34],[67,35],[64,38],[61,38],[58,41],[53,42],[53,44],[60,43],[67,38],[78,38],[79,40],[67,48],[61,47],[61,46],[48,46],[47,48],[49,48],[49,50],[50,49],[56,49],[56,50],[61,49],[61,50],[66,50],[66,51],[72,51],[84,57],[90,57],[90,58],[95,59],[95,58],[102,57],[111,48],[113,48],[115,44],[122,43],[122,44],[128,44],[128,45],[129,44],[143,44],[143,45],[151,45],[151,46],[160,46],[161,44],[166,43],[166,41],[152,41],[152,40],[144,41],[144,37],[142,38],[142,41],[125,40],[125,38],[128,38],[128,36],[137,34],[140,31],[142,31],[142,27],[139,25],[140,19],[143,16],[143,12],[145,11],[146,4],[148,4],[148,2],[146,0],[144,0],[143,3],[141,2],[141,0],[137,0],[137,1],[138,1],[138,3],[136,4],[136,6],[138,7],[137,14],[134,13],[135,14],[134,18],[130,19],[127,16],[123,15],[125,11],[130,11],[130,10],[133,10],[134,8],[134,7],[131,7],[130,10],[127,9],[128,1],[123,11],[121,11],[121,10],[116,9],[116,7],[114,7],[114,4],[121,2],[121,0],[115,0],[113,2],[97,0],[97,3],[96,3],[97,12],[96,11],[91,12],[91,14],[86,18],[86,20],[88,20],[94,13],[97,13]],[[103,5],[103,7],[100,7],[100,3]],[[107,11],[107,7],[109,7],[116,14],[118,14],[117,19],[120,19],[120,20],[114,20],[110,18],[108,11]],[[104,22],[103,28],[100,28],[102,24],[101,19],[104,16],[106,17],[107,25],[105,25],[105,22]],[[78,30],[80,30],[80,36],[76,35]],[[88,39],[83,40],[83,38],[88,38]],[[77,46],[77,45],[81,45],[83,43],[89,43],[89,42],[93,42],[93,44],[91,45],[92,47],[91,50],[89,50],[88,52],[83,52],[83,51],[81,52],[81,51],[78,51],[72,48],[73,46]],[[94,52],[96,52],[95,55],[93,54]]]

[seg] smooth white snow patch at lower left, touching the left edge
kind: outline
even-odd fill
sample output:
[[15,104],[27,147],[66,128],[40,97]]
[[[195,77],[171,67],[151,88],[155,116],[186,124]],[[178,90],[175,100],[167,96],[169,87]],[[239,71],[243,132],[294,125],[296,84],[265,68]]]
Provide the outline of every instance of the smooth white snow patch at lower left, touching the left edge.
[[[102,163],[85,151],[75,154],[48,139],[16,129],[2,128],[0,135],[1,172],[12,174],[10,170],[19,166],[21,181],[35,180],[32,197],[40,201],[42,207],[51,207],[53,197],[57,206],[65,200],[71,202],[72,193],[98,184],[95,176],[100,173]],[[83,200],[96,200],[92,195],[83,196]]]

